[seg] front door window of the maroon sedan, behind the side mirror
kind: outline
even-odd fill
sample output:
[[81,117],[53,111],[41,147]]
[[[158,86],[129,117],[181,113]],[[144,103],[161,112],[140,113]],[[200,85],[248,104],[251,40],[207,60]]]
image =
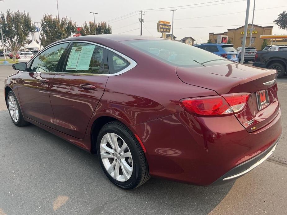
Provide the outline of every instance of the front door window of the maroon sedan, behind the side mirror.
[[52,46],[38,55],[30,68],[30,72],[56,72],[57,64],[68,43]]

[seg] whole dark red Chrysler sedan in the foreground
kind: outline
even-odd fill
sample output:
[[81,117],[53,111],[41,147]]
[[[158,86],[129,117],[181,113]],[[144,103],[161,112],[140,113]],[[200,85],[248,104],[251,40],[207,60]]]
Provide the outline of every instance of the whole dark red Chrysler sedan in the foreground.
[[282,131],[275,70],[176,41],[68,38],[13,68],[13,123],[97,153],[125,189],[150,176],[203,186],[236,179],[271,155]]

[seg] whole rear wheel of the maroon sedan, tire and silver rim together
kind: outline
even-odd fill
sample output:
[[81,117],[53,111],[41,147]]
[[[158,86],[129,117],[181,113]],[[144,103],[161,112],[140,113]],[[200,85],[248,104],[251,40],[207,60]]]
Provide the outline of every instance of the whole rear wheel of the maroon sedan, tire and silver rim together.
[[102,127],[97,137],[97,154],[106,176],[123,189],[136,188],[150,179],[141,145],[119,121]]

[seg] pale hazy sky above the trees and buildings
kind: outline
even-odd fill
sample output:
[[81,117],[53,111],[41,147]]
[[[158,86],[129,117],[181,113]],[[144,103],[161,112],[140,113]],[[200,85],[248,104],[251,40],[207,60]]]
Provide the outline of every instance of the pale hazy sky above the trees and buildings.
[[[204,2],[213,3],[200,4]],[[251,0],[250,10],[253,9],[253,2],[254,1]],[[156,23],[158,22],[158,20],[171,21],[172,12],[169,12],[168,10],[178,9],[177,11],[174,11],[174,36],[176,36],[177,39],[191,36],[195,40],[198,40],[198,42],[200,42],[200,38],[202,38],[202,42],[206,42],[209,37],[209,32],[222,33],[223,31],[227,31],[228,28],[238,28],[241,25],[244,25],[245,12],[242,11],[246,11],[247,1],[58,0],[58,3],[60,17],[67,16],[68,18],[71,18],[77,23],[77,26],[81,26],[84,21],[93,20],[93,15],[89,12],[99,13],[96,15],[96,22],[111,20],[107,23],[112,26],[113,34],[128,31],[124,34],[139,35],[140,29],[138,28],[140,28],[140,24],[138,18],[140,17],[140,14],[139,12],[135,11],[146,10],[145,15],[143,16],[143,35],[152,35],[155,37],[161,36],[161,33],[158,33],[156,29]],[[166,9],[149,10],[155,8]],[[0,2],[0,11],[5,12],[7,9],[10,9],[11,11],[20,10],[29,12],[32,21],[40,21],[44,13],[57,15],[56,0],[5,0],[4,2]],[[259,24],[262,26],[273,25],[273,34],[287,34],[286,30],[280,30],[278,26],[276,26],[276,24],[272,24],[273,20],[276,19],[278,17],[278,14],[283,10],[287,10],[286,0],[256,0],[254,24]],[[129,13],[130,15],[127,15]],[[123,17],[118,18],[120,16]],[[251,22],[252,11],[249,12],[249,23]]]

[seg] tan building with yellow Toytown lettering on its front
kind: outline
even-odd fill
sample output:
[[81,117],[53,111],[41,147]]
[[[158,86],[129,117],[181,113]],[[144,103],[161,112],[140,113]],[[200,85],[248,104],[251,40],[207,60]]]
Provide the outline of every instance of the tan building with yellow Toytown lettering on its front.
[[[246,38],[245,46],[249,46],[250,34],[249,29],[251,29],[251,24],[248,24],[248,34]],[[251,46],[255,46],[257,50],[261,50],[261,45],[263,39],[260,39],[260,35],[271,35],[273,26],[260,26],[253,24],[253,33],[251,39]],[[209,39],[211,42],[217,42],[218,35],[227,35],[228,42],[234,44],[234,48],[238,48],[242,46],[243,35],[244,35],[244,25],[237,29],[227,29],[226,32],[223,33],[209,33]]]

